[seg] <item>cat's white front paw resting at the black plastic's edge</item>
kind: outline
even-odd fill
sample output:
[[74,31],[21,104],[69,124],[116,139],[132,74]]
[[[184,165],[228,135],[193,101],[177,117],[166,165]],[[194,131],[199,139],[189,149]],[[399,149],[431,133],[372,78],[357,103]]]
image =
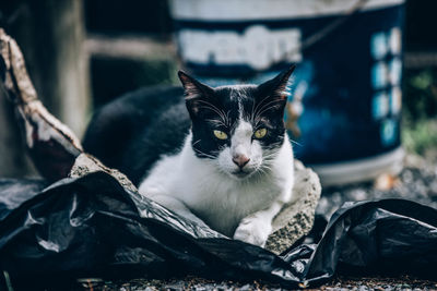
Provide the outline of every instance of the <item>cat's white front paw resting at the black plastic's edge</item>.
[[270,221],[263,221],[252,217],[241,220],[235,230],[234,240],[244,241],[259,246],[264,246],[269,234],[272,231]]

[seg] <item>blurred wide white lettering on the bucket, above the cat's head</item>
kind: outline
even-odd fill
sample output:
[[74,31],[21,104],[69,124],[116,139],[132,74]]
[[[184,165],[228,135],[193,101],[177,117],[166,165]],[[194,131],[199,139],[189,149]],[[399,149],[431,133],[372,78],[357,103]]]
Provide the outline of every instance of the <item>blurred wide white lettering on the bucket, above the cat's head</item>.
[[287,62],[302,61],[297,28],[269,31],[263,25],[251,25],[240,34],[182,29],[178,41],[184,48],[182,59],[192,65],[214,63],[265,70],[284,58]]

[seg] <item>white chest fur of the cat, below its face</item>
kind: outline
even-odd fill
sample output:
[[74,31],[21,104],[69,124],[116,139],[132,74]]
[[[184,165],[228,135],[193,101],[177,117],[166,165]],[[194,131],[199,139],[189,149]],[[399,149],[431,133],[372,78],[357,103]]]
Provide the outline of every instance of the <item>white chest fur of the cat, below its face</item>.
[[[164,157],[154,166],[140,184],[142,195],[151,199],[172,196],[212,229],[228,237],[248,215],[268,208],[274,202],[291,201],[294,171],[287,137],[269,171],[244,180],[220,172],[214,160],[196,157],[190,143],[191,134],[179,154]],[[172,204],[164,206],[172,208]],[[184,215],[178,211],[180,209],[173,210]]]

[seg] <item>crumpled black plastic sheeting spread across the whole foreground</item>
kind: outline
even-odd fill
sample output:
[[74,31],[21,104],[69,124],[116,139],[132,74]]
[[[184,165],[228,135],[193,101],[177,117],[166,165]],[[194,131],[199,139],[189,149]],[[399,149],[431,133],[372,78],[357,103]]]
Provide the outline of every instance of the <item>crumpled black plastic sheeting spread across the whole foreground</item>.
[[194,275],[297,288],[321,284],[336,269],[435,276],[437,210],[409,201],[344,205],[318,245],[276,256],[193,225],[104,172],[43,186],[0,180],[0,268],[15,286]]

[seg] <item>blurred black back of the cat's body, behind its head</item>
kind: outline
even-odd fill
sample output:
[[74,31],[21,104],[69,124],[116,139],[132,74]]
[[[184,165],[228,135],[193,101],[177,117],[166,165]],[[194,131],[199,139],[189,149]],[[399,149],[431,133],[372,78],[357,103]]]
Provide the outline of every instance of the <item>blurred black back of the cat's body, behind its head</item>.
[[83,146],[138,186],[162,156],[182,147],[190,124],[181,87],[142,88],[99,108]]

